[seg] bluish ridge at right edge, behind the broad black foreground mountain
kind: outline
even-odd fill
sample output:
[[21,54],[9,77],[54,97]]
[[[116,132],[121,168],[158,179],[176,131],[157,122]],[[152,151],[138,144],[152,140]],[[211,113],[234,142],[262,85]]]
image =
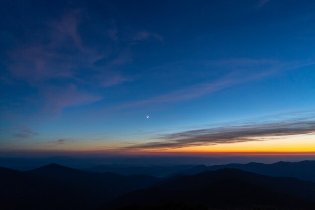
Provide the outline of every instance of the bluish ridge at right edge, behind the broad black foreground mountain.
[[277,162],[273,164],[248,163],[248,164],[227,164],[205,166],[200,165],[191,169],[183,170],[182,174],[198,174],[207,170],[218,170],[223,168],[236,168],[257,174],[275,176],[275,177],[294,177],[298,179],[315,182],[315,161],[301,162]]

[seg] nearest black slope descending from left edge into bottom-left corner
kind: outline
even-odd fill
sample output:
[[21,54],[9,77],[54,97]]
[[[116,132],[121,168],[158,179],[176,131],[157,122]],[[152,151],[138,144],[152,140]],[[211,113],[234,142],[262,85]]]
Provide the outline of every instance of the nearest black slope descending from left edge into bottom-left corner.
[[0,208],[87,209],[85,194],[75,187],[32,174],[0,167]]

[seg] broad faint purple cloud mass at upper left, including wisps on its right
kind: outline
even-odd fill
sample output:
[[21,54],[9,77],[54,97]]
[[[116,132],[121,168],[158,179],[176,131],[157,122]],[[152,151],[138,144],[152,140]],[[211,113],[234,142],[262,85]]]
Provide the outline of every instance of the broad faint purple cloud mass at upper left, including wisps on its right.
[[[70,10],[60,18],[45,22],[37,32],[45,34],[41,36],[42,40],[32,40],[12,50],[8,64],[12,75],[38,88],[52,80],[103,86],[104,77],[102,80],[98,78],[108,72],[114,75],[117,65],[132,61],[129,44],[116,46],[113,43],[118,39],[116,29],[107,30],[112,40],[99,40],[101,46],[85,43],[79,30],[86,23],[82,13],[81,10]],[[97,77],[86,77],[90,74]]]

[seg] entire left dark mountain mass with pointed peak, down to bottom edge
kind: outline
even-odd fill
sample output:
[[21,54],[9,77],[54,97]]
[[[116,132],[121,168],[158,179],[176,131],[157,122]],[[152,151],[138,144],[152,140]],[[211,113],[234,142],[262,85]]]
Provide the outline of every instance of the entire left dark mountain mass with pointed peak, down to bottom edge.
[[90,173],[57,164],[21,172],[0,168],[0,209],[93,209],[160,178]]

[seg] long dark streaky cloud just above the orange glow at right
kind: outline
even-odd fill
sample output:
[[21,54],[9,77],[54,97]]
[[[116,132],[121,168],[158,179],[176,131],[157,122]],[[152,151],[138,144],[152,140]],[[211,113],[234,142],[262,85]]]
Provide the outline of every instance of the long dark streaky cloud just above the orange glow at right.
[[211,146],[240,142],[265,141],[271,137],[310,134],[315,132],[315,115],[282,122],[268,120],[243,122],[243,125],[215,126],[160,135],[152,142],[135,143],[128,149],[174,149],[192,146]]

